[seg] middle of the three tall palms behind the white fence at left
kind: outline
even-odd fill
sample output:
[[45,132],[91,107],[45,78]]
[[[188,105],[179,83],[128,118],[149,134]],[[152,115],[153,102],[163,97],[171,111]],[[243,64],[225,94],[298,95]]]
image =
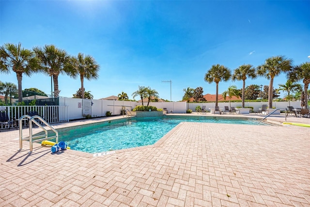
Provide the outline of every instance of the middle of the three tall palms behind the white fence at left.
[[54,45],[45,45],[44,48],[33,48],[37,57],[41,60],[44,71],[53,79],[55,97],[59,96],[58,76],[63,73],[69,73],[70,56],[66,51],[56,48]]

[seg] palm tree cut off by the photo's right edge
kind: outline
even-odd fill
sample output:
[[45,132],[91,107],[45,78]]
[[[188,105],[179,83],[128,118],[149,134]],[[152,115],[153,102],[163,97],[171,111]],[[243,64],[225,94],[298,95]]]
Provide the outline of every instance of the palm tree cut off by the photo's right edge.
[[[304,91],[308,92],[308,86],[310,83],[310,62],[299,64],[293,67],[287,76],[290,80],[293,81],[302,80],[304,83]],[[308,93],[305,93],[305,101],[308,103]],[[308,108],[308,104],[306,104],[306,108]]]

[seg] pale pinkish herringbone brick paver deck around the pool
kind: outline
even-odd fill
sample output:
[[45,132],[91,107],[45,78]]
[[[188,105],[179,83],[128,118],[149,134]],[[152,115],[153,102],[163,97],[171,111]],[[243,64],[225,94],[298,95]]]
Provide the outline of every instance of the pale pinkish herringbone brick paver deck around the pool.
[[310,206],[310,127],[183,122],[152,146],[99,157],[33,146],[17,151],[18,130],[1,130],[0,207]]

